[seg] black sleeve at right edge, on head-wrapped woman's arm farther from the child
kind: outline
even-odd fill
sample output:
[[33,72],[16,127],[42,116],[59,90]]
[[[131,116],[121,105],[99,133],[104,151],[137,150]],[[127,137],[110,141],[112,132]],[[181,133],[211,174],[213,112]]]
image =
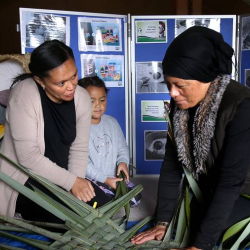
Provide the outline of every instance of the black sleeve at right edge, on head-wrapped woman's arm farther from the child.
[[220,176],[208,212],[202,221],[194,246],[212,249],[239,197],[250,165],[250,100],[237,108],[226,128]]

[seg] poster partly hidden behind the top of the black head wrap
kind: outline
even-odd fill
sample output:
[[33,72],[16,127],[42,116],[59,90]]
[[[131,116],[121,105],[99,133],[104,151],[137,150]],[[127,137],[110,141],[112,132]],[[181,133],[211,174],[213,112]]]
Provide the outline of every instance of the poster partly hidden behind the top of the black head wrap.
[[220,18],[179,18],[175,20],[175,37],[193,26],[203,26],[220,32]]

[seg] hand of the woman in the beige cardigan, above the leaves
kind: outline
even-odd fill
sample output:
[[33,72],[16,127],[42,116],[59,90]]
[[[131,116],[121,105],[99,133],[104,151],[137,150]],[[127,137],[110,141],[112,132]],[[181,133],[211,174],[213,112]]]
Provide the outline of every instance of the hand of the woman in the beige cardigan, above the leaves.
[[75,183],[70,191],[76,198],[84,202],[92,200],[95,196],[95,191],[90,181],[80,177],[76,178]]

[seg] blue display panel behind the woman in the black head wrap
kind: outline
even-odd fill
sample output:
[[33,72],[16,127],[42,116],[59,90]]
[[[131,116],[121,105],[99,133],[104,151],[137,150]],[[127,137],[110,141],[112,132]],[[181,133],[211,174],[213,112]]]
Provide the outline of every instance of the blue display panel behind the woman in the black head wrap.
[[161,64],[166,49],[194,25],[220,32],[235,48],[236,16],[132,16],[131,25],[133,165],[135,175],[155,175],[160,173],[167,140],[163,105],[170,96]]

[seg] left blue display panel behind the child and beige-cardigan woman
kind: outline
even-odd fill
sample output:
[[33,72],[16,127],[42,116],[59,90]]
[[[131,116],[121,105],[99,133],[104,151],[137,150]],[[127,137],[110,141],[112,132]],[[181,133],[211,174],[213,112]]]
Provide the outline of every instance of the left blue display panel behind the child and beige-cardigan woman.
[[128,136],[127,16],[20,8],[22,53],[58,39],[73,49],[79,78],[99,76],[109,88],[106,114]]

